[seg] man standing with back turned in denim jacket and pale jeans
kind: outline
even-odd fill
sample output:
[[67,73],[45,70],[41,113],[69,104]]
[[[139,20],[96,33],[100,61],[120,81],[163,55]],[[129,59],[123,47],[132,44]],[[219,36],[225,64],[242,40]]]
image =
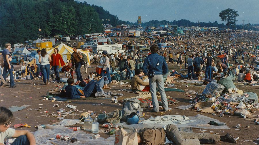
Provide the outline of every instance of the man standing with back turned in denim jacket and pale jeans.
[[162,107],[164,111],[168,110],[167,98],[165,95],[163,74],[168,72],[167,63],[163,56],[158,55],[158,46],[153,44],[150,47],[151,54],[146,57],[143,64],[143,72],[148,75],[149,78],[149,87],[151,90],[152,102],[153,102],[153,111],[159,112],[159,104],[157,100],[157,87],[161,94]]

